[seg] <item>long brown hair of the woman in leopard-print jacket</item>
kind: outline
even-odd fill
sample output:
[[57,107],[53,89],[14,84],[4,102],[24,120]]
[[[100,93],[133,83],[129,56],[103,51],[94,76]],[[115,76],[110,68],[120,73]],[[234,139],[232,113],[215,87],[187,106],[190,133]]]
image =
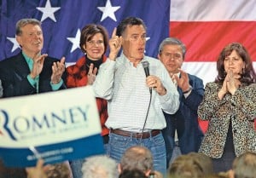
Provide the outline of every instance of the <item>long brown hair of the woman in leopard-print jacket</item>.
[[253,64],[250,55],[247,52],[247,49],[241,45],[241,43],[230,43],[228,44],[220,53],[217,60],[217,70],[218,76],[215,79],[216,83],[223,83],[226,73],[224,71],[224,59],[229,56],[232,51],[235,50],[237,55],[245,62],[245,68],[241,73],[240,81],[241,83],[255,83],[256,74],[253,70]]

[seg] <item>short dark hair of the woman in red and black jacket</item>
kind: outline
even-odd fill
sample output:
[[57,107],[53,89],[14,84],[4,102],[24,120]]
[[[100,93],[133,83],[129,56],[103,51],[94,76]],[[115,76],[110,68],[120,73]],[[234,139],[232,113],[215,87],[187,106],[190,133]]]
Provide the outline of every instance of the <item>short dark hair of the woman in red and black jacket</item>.
[[104,53],[106,52],[108,48],[108,31],[104,26],[101,25],[96,25],[96,24],[89,24],[87,26],[84,26],[81,32],[81,37],[80,37],[80,49],[85,53],[85,50],[83,48],[83,45],[90,41],[90,39],[96,34],[96,33],[102,33],[103,36],[103,43],[104,43]]

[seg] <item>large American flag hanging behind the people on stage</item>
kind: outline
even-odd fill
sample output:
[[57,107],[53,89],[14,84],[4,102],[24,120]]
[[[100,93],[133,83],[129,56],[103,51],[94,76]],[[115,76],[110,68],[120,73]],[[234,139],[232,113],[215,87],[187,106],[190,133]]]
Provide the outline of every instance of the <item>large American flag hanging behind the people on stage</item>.
[[42,21],[44,50],[66,56],[67,66],[82,56],[81,29],[101,24],[109,35],[127,16],[148,26],[146,55],[156,57],[160,41],[178,37],[188,48],[183,69],[211,82],[216,60],[227,43],[240,42],[256,66],[256,0],[2,0],[0,1],[0,60],[20,51],[15,23],[21,18]]

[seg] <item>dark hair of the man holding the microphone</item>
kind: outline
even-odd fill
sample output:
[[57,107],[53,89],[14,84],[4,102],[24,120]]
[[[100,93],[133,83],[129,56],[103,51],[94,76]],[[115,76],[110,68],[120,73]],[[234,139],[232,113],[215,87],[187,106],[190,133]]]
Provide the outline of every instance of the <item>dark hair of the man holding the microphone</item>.
[[142,19],[137,17],[127,17],[119,23],[119,26],[117,26],[116,35],[122,36],[127,26],[140,26],[140,25],[142,25],[145,30],[147,29]]

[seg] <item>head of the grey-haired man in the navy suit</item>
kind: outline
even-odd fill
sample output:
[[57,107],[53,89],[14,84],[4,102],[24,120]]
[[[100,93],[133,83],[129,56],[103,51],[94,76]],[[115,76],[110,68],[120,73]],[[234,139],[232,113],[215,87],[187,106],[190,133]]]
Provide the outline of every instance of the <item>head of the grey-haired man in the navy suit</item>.
[[158,59],[169,73],[177,73],[183,65],[186,54],[185,45],[175,37],[167,37],[160,43]]

